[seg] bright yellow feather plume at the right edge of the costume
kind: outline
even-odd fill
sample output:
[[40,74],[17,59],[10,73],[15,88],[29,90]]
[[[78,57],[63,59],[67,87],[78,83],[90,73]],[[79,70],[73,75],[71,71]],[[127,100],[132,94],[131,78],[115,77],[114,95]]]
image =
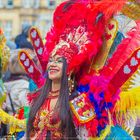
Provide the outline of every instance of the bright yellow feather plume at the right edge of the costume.
[[[124,121],[135,120],[136,116],[140,116],[140,87],[132,88],[129,91],[123,91],[120,94],[120,100],[114,107],[114,113],[118,124],[123,125]],[[129,114],[129,115],[128,115]]]

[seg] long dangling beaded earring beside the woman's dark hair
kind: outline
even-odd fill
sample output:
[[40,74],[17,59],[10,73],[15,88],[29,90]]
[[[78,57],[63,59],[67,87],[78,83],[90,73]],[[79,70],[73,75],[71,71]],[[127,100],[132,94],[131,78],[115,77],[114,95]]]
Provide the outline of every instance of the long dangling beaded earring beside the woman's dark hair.
[[70,74],[68,77],[68,86],[69,86],[69,92],[70,92],[69,95],[71,95],[75,87],[75,77],[73,74]]

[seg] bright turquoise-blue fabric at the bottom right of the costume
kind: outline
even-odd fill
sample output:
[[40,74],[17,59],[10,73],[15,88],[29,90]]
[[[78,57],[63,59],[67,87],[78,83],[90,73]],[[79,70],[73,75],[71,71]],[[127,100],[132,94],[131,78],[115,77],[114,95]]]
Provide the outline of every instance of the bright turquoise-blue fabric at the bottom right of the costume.
[[120,126],[112,126],[110,134],[105,140],[133,140],[133,138]]

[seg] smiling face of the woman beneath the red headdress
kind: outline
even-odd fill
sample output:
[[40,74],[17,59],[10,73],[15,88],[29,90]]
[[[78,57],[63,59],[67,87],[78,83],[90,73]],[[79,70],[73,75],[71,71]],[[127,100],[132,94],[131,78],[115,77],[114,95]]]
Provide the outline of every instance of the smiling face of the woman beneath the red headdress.
[[60,80],[62,77],[62,69],[63,69],[63,58],[59,55],[55,55],[50,57],[47,70],[49,79]]

